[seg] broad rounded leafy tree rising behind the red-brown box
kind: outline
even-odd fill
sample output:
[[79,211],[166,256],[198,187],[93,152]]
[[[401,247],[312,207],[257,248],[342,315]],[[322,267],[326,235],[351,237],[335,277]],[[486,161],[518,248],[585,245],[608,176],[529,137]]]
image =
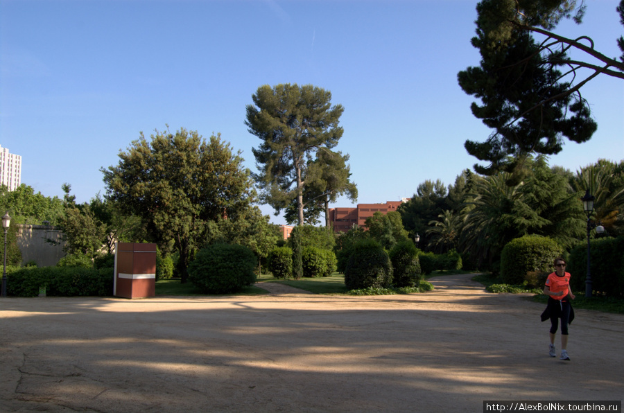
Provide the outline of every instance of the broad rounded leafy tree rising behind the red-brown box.
[[250,172],[220,135],[207,141],[196,131],[143,133],[119,153],[119,164],[102,168],[107,200],[141,217],[159,245],[173,240],[177,270],[187,281],[191,258],[206,240],[210,223],[236,217],[254,200]]

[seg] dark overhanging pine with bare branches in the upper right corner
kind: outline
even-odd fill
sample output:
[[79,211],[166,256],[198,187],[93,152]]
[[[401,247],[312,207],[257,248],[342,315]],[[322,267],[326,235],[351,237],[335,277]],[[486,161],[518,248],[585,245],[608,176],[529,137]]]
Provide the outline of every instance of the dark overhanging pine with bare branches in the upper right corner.
[[[580,23],[585,4],[577,3],[478,3],[477,35],[471,43],[480,51],[480,66],[458,73],[460,87],[481,100],[471,106],[474,116],[494,130],[485,142],[465,143],[470,155],[489,162],[475,165],[478,173],[514,171],[528,155],[560,152],[563,137],[582,143],[596,131],[580,89],[599,74],[624,78],[624,63],[596,51],[590,37],[567,39],[551,31],[564,18]],[[617,11],[624,24],[624,3]],[[624,52],[624,38],[618,44]],[[588,60],[571,57],[571,50],[585,53]]]

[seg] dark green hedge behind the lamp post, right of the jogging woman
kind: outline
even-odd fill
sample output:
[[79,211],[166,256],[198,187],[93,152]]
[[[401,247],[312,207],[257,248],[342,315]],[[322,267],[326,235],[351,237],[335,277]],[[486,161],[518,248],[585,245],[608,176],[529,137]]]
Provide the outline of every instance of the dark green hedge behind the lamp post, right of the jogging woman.
[[[608,297],[624,297],[624,236],[591,240],[591,286]],[[571,274],[573,291],[585,290],[587,278],[587,242],[574,247],[566,271]]]

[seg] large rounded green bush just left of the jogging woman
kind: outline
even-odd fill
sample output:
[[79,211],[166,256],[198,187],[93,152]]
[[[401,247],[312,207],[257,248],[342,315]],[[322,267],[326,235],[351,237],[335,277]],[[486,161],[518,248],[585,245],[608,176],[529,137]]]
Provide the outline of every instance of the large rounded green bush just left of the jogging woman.
[[562,256],[563,248],[551,238],[526,235],[511,240],[501,253],[501,279],[506,284],[528,281],[529,272],[552,270],[553,261]]

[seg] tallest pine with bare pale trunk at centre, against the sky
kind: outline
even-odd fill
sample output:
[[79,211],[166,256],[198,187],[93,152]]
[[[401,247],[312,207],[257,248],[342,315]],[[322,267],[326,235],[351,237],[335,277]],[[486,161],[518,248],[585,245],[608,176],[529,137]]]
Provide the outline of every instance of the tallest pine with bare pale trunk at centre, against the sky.
[[332,107],[331,93],[312,85],[264,85],[252,100],[245,125],[262,141],[252,149],[261,168],[254,175],[261,199],[278,213],[294,200],[297,223],[304,225],[304,189],[318,179],[316,174],[309,175],[309,161],[321,148],[338,144],[344,109]]

